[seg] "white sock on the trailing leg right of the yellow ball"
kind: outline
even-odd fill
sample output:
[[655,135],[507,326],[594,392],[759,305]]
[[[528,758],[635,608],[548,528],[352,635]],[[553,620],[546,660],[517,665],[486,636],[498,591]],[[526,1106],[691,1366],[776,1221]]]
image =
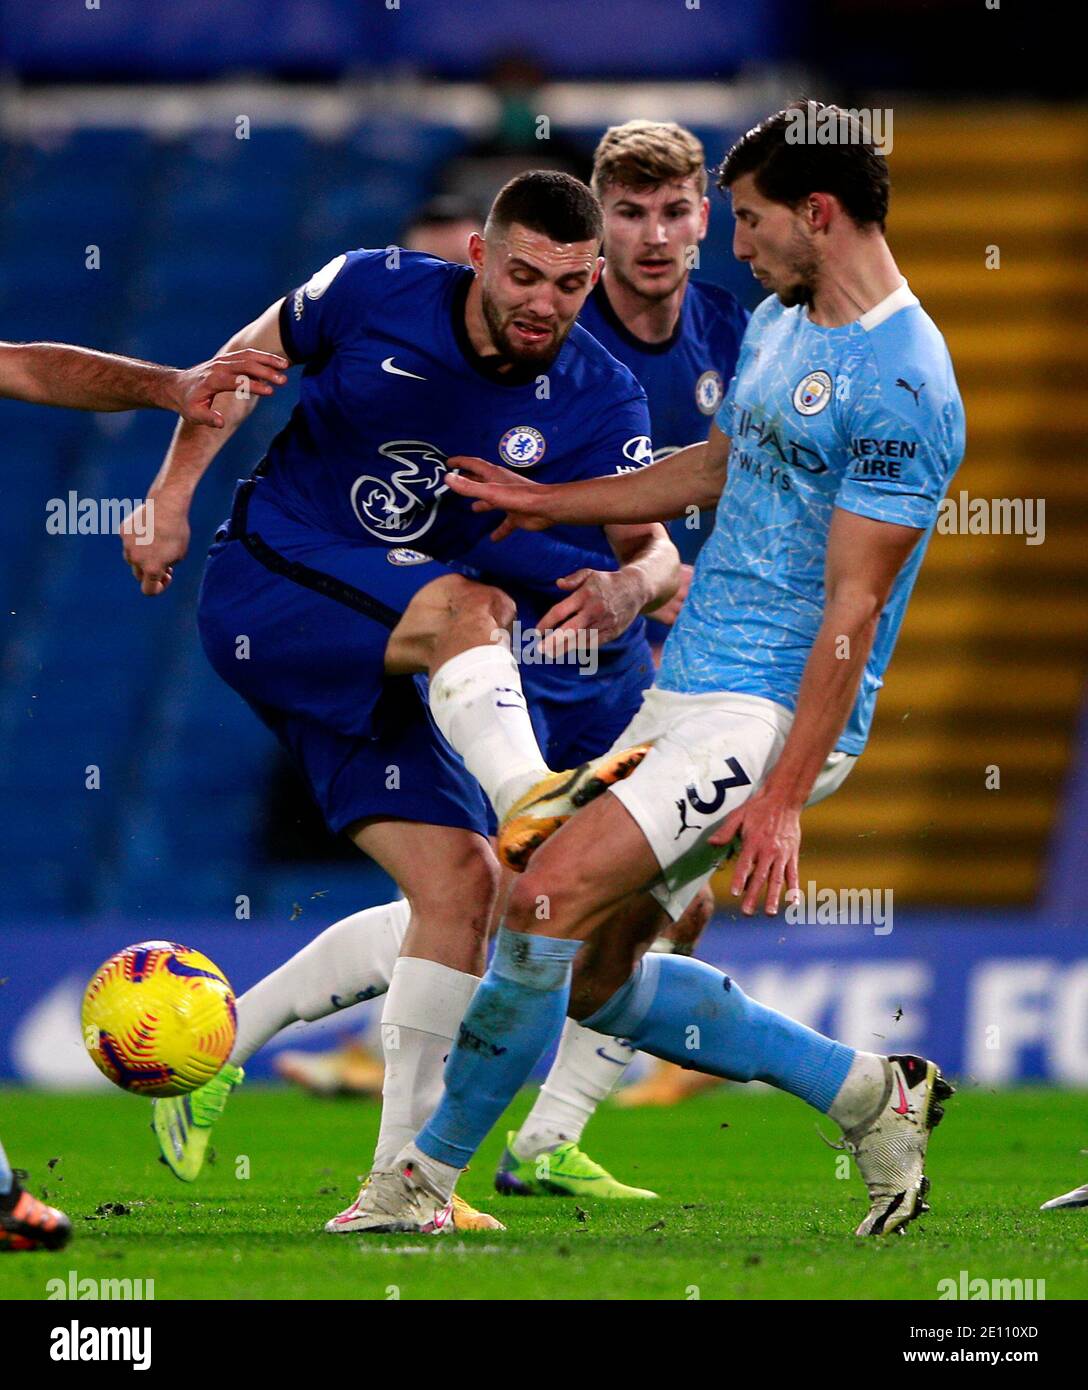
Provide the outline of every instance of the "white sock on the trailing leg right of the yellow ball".
[[231,1061],[242,1066],[289,1023],[385,994],[410,919],[406,898],[354,912],[246,990]]

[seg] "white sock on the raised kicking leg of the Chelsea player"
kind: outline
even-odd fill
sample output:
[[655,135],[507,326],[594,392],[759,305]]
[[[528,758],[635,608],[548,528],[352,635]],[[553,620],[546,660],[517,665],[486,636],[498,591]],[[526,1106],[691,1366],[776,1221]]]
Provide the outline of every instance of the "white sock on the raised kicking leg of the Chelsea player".
[[509,638],[443,662],[431,677],[431,713],[499,820],[547,774]]

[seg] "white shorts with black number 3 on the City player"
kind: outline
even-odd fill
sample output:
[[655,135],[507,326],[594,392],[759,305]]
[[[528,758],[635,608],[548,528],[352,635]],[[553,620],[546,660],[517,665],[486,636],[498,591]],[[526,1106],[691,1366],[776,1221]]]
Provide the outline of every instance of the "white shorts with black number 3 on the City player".
[[[710,835],[764,780],[792,723],[785,706],[757,695],[685,695],[652,685],[613,745],[653,744],[609,791],[650,842],[663,876],[650,891],[674,922],[723,860],[725,847],[707,844]],[[856,762],[853,753],[832,752],[806,805],[836,791]]]

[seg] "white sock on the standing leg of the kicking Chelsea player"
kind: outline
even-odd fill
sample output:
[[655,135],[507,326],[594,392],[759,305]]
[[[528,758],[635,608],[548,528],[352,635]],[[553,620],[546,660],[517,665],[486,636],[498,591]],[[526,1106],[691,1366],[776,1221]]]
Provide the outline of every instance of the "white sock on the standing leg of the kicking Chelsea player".
[[382,1013],[382,1123],[374,1168],[389,1169],[442,1098],[446,1058],[479,976],[400,956]]

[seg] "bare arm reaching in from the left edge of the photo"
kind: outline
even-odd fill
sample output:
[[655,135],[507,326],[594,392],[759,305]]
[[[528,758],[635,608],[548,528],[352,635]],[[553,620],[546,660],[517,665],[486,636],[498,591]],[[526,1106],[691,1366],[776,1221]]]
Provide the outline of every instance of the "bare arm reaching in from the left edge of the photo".
[[0,396],[72,410],[151,406],[218,428],[215,395],[233,391],[245,377],[252,392],[270,396],[268,382],[282,384],[286,366],[285,357],[265,352],[224,352],[181,370],[68,343],[0,343]]

